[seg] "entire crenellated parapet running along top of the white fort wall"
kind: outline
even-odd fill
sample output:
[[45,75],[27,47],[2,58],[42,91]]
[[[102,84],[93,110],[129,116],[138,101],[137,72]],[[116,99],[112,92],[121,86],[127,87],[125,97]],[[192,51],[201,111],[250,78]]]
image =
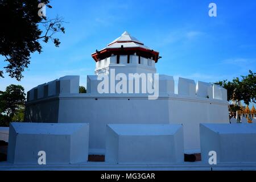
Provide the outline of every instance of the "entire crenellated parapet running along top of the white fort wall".
[[[131,74],[129,77],[122,73],[122,78],[118,77],[118,74],[112,77],[111,75],[88,75],[86,90],[89,94],[152,94],[152,89],[159,95],[178,95],[180,97],[192,97],[192,98],[209,98],[216,100],[227,100],[226,89],[216,84],[210,84],[208,82],[198,81],[187,78],[179,78],[177,83],[177,94],[175,94],[175,81],[174,77],[168,75],[151,74],[152,81],[150,82],[148,74]],[[136,76],[139,78],[139,82],[135,81]],[[103,84],[104,79],[105,83]],[[157,79],[157,81],[156,81]],[[121,91],[117,91],[118,84],[122,82]],[[148,87],[148,84],[151,84]],[[154,85],[156,84],[156,85]],[[104,85],[104,86],[103,86]],[[101,92],[100,89],[106,92]],[[120,86],[119,86],[120,87]],[[152,89],[150,89],[152,87]],[[123,91],[122,91],[123,90]],[[151,90],[151,91],[150,91]],[[27,101],[40,100],[51,96],[57,96],[59,94],[78,94],[79,93],[79,76],[64,76],[59,79],[49,81],[32,88],[27,92]]]

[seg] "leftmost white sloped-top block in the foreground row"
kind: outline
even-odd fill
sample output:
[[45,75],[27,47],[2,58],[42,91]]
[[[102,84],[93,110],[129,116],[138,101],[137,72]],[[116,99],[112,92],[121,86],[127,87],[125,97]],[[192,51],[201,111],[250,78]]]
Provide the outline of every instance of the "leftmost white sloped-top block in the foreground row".
[[88,123],[10,123],[7,161],[37,164],[46,152],[46,164],[88,160]]

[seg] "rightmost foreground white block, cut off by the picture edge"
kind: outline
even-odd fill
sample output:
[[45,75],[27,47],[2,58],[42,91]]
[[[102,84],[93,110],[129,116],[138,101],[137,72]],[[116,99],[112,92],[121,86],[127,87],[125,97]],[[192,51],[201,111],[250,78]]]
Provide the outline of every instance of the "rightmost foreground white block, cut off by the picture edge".
[[200,124],[201,156],[215,151],[217,163],[256,162],[256,124]]

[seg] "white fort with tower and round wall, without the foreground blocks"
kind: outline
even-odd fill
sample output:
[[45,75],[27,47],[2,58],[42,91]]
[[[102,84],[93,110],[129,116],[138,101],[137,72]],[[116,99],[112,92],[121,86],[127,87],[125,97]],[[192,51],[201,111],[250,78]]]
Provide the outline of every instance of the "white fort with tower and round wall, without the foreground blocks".
[[[87,76],[87,93],[79,93],[79,76],[64,76],[38,85],[27,94],[25,121],[89,123],[89,154],[105,154],[108,124],[122,124],[122,127],[126,124],[134,127],[136,124],[181,124],[184,151],[189,154],[200,152],[200,123],[229,123],[226,90],[207,82],[196,84],[193,80],[179,78],[178,94],[175,94],[174,78],[159,75],[159,96],[154,100],[149,100],[149,94],[143,92],[143,81],[139,92],[99,93],[98,85],[102,82],[99,77],[108,76],[110,90],[113,80],[118,84],[126,75],[127,85],[122,87],[129,90],[129,83],[133,81],[129,73],[156,73],[159,52],[128,32],[107,47],[96,50],[92,57],[96,69],[95,75]],[[122,79],[115,77],[118,73]],[[156,77],[152,77],[155,84]],[[133,91],[135,87],[133,83]]]

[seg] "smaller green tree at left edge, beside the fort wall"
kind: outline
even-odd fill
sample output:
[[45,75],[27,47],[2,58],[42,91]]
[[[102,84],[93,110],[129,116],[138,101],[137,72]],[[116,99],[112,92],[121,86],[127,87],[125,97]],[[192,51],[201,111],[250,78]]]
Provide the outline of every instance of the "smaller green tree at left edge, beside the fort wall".
[[21,85],[9,85],[0,91],[0,122],[9,125],[11,121],[23,121],[26,94]]

